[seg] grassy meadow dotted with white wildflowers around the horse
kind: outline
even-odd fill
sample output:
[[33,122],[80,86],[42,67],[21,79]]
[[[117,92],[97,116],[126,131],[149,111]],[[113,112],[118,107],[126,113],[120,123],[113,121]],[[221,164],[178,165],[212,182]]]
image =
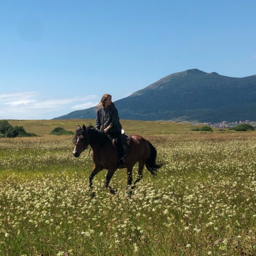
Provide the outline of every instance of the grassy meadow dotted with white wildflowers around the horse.
[[122,121],[165,165],[144,168],[131,198],[124,170],[116,195],[103,170],[92,197],[89,151],[74,158],[70,136],[48,135],[61,122],[93,120],[12,120],[40,137],[0,139],[0,255],[255,255],[256,132]]

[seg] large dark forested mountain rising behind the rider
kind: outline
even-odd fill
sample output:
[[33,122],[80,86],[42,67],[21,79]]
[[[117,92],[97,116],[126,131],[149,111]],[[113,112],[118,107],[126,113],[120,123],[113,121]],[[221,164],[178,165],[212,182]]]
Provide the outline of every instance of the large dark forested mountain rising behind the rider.
[[[121,119],[220,122],[256,120],[256,75],[236,78],[190,69],[114,102]],[[95,108],[54,119],[95,118]]]

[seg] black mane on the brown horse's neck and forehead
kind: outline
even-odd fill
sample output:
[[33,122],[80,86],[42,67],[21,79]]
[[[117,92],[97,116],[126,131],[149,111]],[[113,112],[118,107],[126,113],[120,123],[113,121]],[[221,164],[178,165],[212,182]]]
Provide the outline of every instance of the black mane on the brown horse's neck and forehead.
[[86,132],[83,131],[83,129],[76,130],[76,134],[73,138],[73,142],[76,142],[77,137],[79,136],[86,136],[86,134],[89,133],[90,135],[90,143],[95,143],[99,141],[99,146],[103,147],[105,144],[110,142],[110,136],[106,133],[104,133],[101,130],[95,129],[95,127],[92,124],[89,124],[86,127]]

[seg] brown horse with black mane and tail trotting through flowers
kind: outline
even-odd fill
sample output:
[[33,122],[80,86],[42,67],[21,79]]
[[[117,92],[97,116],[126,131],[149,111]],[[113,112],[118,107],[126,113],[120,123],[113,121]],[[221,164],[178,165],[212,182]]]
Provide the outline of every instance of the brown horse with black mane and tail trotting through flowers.
[[[75,148],[73,155],[79,157],[81,152],[86,150],[89,146],[93,150],[93,171],[89,176],[90,188],[93,185],[93,178],[102,169],[107,169],[108,174],[105,178],[105,187],[109,187],[111,193],[115,193],[115,190],[109,186],[110,180],[116,170],[118,169],[118,155],[113,146],[113,143],[106,133],[95,129],[92,125],[82,128],[78,125],[76,135],[74,136],[73,142]],[[146,139],[139,135],[132,135],[130,140],[131,152],[124,158],[126,174],[127,174],[127,188],[129,189],[132,184],[132,172],[134,165],[139,162],[138,176],[135,184],[139,182],[142,178],[142,170],[144,165],[150,171],[150,173],[155,176],[157,169],[159,169],[163,164],[156,163],[157,151],[156,148],[148,142]]]

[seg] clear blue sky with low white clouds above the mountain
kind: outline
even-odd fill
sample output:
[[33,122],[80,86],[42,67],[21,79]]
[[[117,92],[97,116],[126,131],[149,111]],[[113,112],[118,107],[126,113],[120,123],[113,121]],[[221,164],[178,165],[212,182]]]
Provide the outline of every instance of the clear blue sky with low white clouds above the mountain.
[[52,119],[188,69],[256,74],[256,1],[0,0],[0,119]]

